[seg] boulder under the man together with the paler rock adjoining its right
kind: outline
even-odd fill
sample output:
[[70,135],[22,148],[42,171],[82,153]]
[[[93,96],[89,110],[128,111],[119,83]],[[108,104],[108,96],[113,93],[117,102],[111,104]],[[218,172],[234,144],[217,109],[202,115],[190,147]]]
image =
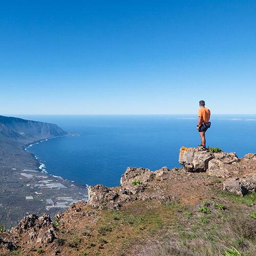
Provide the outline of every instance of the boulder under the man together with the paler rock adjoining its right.
[[179,163],[189,172],[208,172],[209,175],[230,177],[229,165],[238,162],[236,153],[211,153],[199,148],[182,147]]

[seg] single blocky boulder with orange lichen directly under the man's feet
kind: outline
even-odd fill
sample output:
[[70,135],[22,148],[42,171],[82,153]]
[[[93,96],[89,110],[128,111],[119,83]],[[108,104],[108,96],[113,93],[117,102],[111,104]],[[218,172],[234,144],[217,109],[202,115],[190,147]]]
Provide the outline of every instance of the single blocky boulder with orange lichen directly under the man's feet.
[[214,158],[214,154],[201,151],[199,148],[181,147],[179,163],[190,172],[205,172],[208,162]]

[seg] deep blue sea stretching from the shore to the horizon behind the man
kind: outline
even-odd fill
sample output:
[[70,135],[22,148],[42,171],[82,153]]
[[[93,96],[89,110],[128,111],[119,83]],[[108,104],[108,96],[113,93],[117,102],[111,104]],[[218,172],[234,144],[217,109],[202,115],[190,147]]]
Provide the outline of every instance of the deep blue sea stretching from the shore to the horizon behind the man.
[[[179,166],[181,146],[200,143],[197,115],[40,115],[18,116],[51,122],[80,136],[34,144],[29,152],[49,174],[80,184],[116,186],[127,166],[152,170]],[[256,153],[256,115],[212,115],[207,145]]]

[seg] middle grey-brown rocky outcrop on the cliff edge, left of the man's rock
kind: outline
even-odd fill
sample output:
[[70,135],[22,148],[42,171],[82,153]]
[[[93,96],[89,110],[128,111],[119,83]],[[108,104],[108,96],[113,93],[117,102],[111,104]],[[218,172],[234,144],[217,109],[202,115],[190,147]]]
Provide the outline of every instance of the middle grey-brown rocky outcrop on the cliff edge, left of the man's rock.
[[[154,179],[164,180],[167,173],[178,170],[169,170],[162,167],[155,172],[150,169],[128,167],[120,180],[120,186],[109,188],[103,185],[91,186],[88,189],[88,205],[97,209],[119,209],[122,204],[135,200],[174,200],[174,197],[166,196],[164,191],[158,189]],[[151,188],[146,191],[146,188]]]

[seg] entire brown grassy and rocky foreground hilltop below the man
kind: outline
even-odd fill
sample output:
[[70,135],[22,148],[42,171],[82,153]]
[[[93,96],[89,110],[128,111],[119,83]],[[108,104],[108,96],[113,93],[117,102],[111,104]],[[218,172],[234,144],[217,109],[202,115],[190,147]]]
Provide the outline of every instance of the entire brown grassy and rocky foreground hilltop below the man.
[[183,147],[179,158],[184,168],[127,168],[120,186],[90,187],[54,221],[27,216],[0,233],[0,252],[254,255],[256,155]]

